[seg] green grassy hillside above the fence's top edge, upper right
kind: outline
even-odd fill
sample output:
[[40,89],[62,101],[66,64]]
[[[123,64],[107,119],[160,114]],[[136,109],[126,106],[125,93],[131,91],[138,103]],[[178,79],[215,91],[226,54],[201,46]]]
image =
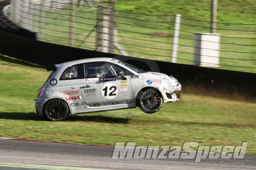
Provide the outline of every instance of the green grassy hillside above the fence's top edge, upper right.
[[[116,10],[211,20],[212,0],[116,0]],[[217,22],[256,23],[256,0],[218,0]]]

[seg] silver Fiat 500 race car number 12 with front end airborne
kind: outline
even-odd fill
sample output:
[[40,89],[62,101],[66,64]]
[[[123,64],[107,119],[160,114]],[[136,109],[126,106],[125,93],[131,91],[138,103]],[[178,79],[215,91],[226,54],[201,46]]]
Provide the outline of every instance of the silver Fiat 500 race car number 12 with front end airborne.
[[38,89],[39,116],[61,121],[71,114],[136,108],[160,110],[180,98],[181,85],[166,74],[146,72],[112,58],[81,59],[48,66],[52,71]]

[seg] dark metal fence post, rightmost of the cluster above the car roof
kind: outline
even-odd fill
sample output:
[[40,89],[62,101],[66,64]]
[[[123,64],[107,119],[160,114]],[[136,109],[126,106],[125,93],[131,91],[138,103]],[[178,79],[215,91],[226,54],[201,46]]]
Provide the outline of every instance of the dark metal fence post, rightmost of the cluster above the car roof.
[[109,15],[109,53],[113,54],[114,53],[114,48],[113,48],[113,30],[114,30],[114,0],[111,0],[110,2],[110,15]]

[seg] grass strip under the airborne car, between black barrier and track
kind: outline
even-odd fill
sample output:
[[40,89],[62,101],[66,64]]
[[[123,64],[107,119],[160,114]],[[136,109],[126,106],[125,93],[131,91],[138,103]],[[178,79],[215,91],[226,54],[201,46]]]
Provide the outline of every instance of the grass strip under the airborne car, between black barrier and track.
[[45,68],[0,56],[0,137],[78,144],[241,145],[256,154],[256,104],[183,94],[154,114],[139,108],[69,116],[49,122],[35,113],[34,99],[49,76]]

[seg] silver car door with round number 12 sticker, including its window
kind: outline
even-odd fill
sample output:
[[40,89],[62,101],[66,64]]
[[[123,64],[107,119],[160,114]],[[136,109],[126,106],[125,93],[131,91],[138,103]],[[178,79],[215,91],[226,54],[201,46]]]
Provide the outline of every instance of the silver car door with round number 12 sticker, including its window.
[[87,111],[114,109],[116,105],[131,102],[131,82],[116,75],[108,62],[84,64],[85,79],[80,81],[81,96]]

